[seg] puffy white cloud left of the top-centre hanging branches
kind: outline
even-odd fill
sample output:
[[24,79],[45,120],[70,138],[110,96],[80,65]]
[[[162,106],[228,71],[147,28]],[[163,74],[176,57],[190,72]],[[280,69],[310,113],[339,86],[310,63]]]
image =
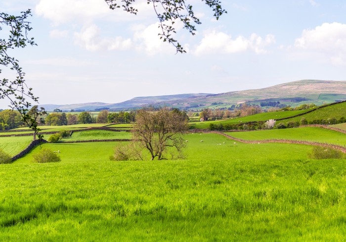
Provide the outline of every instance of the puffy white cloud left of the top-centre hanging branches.
[[90,51],[125,50],[132,46],[132,41],[123,37],[101,38],[100,29],[95,24],[82,29],[81,32],[75,32],[74,39],[76,45]]

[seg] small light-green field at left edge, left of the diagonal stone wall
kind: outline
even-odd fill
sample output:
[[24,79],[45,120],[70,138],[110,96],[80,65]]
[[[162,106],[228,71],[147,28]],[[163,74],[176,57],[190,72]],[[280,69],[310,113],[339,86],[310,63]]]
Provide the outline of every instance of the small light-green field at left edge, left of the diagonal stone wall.
[[0,137],[0,148],[14,156],[33,141],[33,136]]

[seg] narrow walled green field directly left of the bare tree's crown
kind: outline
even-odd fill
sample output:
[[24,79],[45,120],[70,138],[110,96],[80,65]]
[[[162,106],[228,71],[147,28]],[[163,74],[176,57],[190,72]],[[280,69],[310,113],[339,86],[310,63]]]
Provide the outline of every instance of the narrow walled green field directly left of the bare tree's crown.
[[110,140],[110,139],[131,139],[130,132],[114,132],[107,130],[88,130],[83,132],[73,132],[71,137],[61,141],[87,141],[87,140]]

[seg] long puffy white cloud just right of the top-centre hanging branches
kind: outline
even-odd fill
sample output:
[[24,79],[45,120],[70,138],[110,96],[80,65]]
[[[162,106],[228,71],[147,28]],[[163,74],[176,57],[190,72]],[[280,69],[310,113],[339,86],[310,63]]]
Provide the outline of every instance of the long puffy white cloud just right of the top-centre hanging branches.
[[264,54],[267,52],[265,47],[274,43],[275,37],[273,35],[266,35],[264,39],[257,34],[252,34],[248,39],[243,36],[232,39],[230,35],[223,32],[212,31],[205,33],[204,38],[193,52],[196,55],[209,53],[232,54],[252,50],[257,54]]

